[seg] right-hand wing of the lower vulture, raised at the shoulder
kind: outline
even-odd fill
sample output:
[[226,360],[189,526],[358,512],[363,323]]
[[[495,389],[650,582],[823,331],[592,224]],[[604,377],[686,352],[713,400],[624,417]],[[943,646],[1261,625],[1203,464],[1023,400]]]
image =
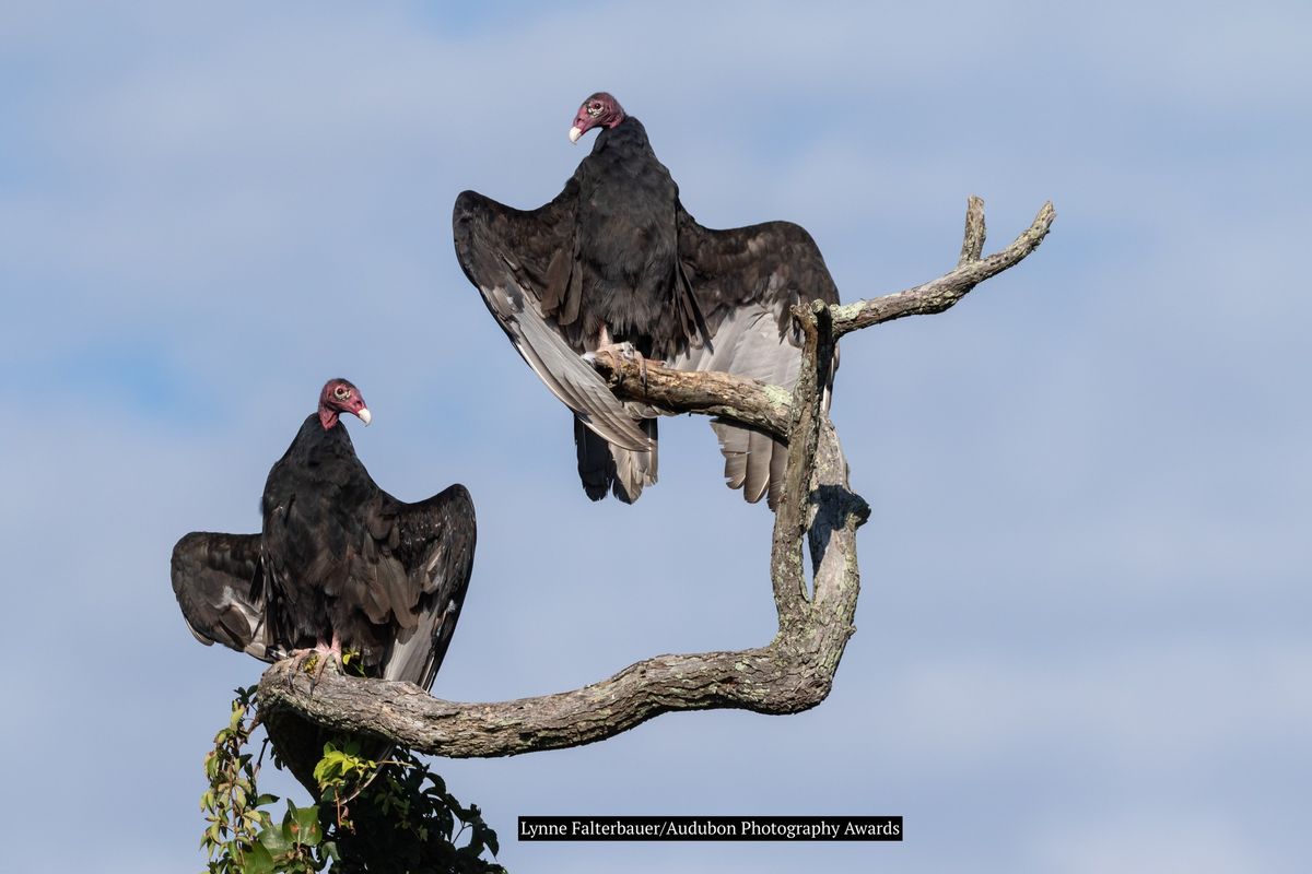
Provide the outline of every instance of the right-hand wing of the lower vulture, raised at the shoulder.
[[[383,679],[433,685],[474,569],[474,501],[462,485],[419,503],[390,495],[395,516],[386,553],[404,569],[408,609],[398,611],[403,632],[383,664]],[[394,604],[394,611],[398,605]]]

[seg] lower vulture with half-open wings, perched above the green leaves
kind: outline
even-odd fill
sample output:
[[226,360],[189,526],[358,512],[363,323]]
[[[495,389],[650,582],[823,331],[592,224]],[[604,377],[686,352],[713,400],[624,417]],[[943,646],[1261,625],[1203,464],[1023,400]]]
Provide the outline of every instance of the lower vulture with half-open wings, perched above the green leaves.
[[202,643],[266,662],[353,650],[366,675],[428,688],[470,583],[474,503],[461,485],[419,503],[379,489],[342,413],[369,425],[359,389],[329,380],[269,470],[262,533],[182,537],[173,594]]

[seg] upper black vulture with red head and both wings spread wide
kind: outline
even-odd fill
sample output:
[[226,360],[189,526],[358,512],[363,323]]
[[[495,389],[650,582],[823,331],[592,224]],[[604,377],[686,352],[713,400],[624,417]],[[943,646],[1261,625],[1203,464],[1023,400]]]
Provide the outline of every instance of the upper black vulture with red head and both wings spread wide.
[[[632,503],[656,482],[660,410],[617,400],[580,356],[619,346],[678,370],[791,388],[800,335],[790,307],[837,303],[838,290],[811,235],[795,224],[712,231],[693,220],[642,122],[607,93],[584,101],[569,139],[593,127],[601,132],[592,153],[546,206],[514,210],[461,194],[455,254],[520,355],[573,410],[588,497],[600,501],[610,490]],[[783,444],[712,427],[727,485],[749,502],[768,494],[774,507]]]

